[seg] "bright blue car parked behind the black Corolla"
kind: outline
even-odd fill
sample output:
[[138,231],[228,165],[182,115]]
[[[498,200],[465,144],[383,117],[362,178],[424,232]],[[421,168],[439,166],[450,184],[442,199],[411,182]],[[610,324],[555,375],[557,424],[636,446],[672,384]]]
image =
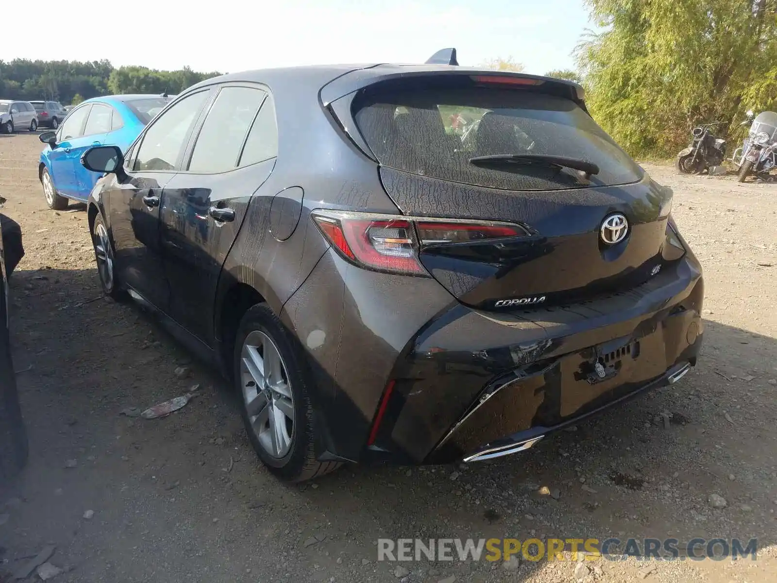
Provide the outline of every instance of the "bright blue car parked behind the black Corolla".
[[143,127],[175,96],[113,95],[94,97],[73,108],[57,131],[44,131],[38,177],[46,203],[61,210],[68,199],[86,201],[101,176],[81,165],[81,155],[96,145],[130,147]]

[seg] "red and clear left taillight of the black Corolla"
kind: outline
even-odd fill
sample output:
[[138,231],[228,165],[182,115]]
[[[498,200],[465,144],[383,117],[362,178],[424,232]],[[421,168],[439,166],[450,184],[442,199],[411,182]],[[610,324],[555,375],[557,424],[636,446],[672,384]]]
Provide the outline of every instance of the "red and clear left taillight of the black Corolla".
[[313,211],[312,218],[329,243],[351,263],[375,271],[427,277],[418,259],[425,246],[528,236],[520,225],[502,222],[326,210]]

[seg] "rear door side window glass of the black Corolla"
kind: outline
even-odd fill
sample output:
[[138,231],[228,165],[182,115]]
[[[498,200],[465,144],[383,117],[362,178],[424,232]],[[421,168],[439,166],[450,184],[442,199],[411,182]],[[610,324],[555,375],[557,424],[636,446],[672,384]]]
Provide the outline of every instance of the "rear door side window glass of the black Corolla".
[[221,89],[197,136],[190,172],[213,174],[237,166],[240,149],[265,95],[250,87]]

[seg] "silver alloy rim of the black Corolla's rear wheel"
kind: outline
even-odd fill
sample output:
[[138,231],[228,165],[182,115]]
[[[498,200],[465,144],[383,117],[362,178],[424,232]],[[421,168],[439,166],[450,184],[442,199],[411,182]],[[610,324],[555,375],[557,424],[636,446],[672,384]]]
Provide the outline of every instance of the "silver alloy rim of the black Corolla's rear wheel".
[[280,459],[294,439],[294,396],[284,359],[266,333],[249,333],[240,356],[240,381],[251,430],[262,449]]

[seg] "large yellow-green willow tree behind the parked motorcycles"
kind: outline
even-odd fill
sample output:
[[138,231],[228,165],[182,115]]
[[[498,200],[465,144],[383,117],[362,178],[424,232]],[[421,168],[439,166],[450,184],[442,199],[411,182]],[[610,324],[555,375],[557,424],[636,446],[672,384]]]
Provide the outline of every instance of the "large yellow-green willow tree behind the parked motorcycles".
[[633,155],[670,155],[688,130],[777,99],[777,0],[587,0],[577,47],[591,113]]

